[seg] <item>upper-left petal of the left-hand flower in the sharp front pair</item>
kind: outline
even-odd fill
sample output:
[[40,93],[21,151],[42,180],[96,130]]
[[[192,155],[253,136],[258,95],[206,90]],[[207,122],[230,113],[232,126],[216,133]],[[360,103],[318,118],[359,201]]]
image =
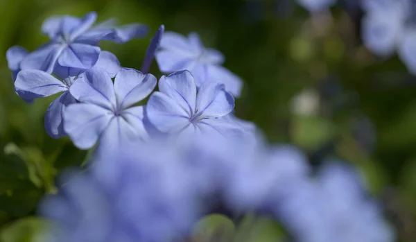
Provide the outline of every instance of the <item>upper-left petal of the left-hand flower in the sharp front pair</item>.
[[104,69],[93,67],[85,71],[83,78],[78,78],[69,90],[80,102],[94,103],[109,110],[116,110],[114,85]]

